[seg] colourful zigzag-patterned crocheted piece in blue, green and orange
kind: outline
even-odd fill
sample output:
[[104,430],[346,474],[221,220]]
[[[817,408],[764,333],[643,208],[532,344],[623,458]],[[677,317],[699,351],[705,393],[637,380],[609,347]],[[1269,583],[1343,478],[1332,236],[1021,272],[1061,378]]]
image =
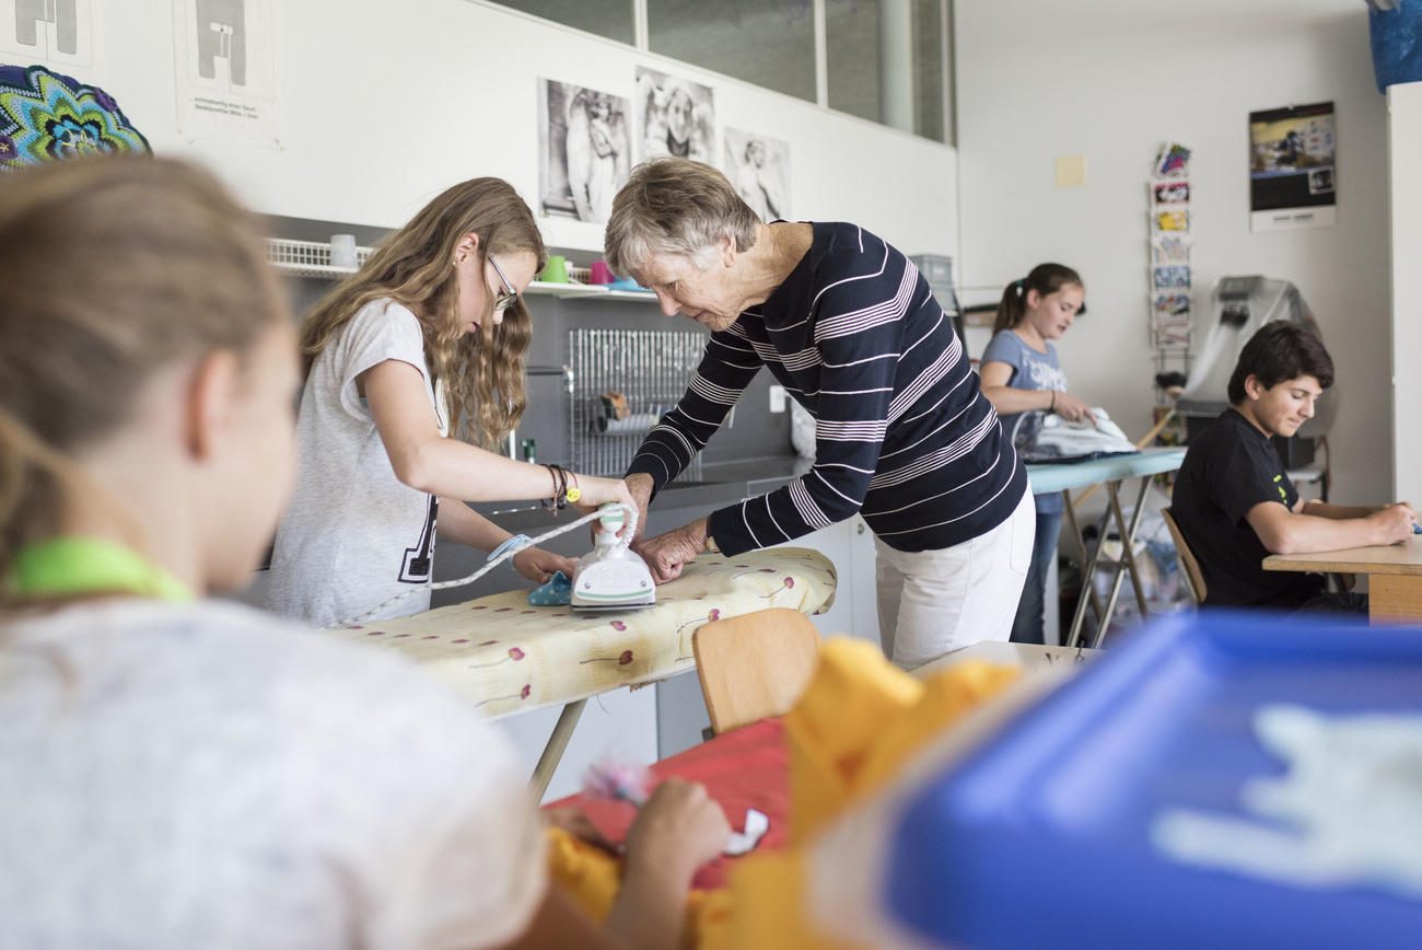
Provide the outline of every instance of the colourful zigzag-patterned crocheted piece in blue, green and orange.
[[0,65],[0,171],[115,152],[152,148],[108,92],[43,65]]

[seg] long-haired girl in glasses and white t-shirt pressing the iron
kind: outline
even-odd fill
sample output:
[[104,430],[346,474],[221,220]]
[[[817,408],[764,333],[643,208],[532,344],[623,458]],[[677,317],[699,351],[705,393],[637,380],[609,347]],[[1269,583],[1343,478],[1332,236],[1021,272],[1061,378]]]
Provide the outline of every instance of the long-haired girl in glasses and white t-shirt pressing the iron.
[[[522,293],[546,262],[533,213],[498,178],[445,191],[301,323],[300,465],[266,604],[328,626],[428,586],[439,536],[492,552],[509,532],[464,502],[630,495],[619,479],[492,451],[528,404]],[[468,441],[465,441],[468,439]],[[535,583],[573,562],[513,557]],[[429,592],[378,617],[428,609]]]

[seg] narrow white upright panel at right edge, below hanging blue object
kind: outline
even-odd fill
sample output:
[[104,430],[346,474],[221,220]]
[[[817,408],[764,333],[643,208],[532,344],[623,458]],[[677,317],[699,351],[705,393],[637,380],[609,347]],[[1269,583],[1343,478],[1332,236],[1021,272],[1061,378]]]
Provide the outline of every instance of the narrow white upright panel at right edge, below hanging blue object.
[[1388,151],[1392,182],[1392,479],[1396,496],[1422,498],[1422,82],[1388,87]]

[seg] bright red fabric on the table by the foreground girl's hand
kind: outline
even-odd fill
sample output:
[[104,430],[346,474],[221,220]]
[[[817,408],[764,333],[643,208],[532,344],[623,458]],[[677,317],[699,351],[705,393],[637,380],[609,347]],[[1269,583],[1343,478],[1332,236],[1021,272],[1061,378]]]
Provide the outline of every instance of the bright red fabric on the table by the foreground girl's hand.
[[[650,785],[656,788],[658,781],[668,776],[701,782],[711,798],[721,804],[734,831],[742,831],[747,808],[764,812],[771,819],[771,828],[751,852],[754,855],[768,848],[784,848],[789,835],[785,818],[789,812],[786,762],[785,727],[779,720],[761,720],[651,765]],[[627,829],[637,815],[627,802],[590,799],[583,795],[569,795],[545,808],[569,806],[582,808],[597,825],[597,831],[614,842],[621,842],[627,836]],[[735,860],[722,856],[711,862],[697,873],[693,886],[708,890],[725,886],[727,873]]]

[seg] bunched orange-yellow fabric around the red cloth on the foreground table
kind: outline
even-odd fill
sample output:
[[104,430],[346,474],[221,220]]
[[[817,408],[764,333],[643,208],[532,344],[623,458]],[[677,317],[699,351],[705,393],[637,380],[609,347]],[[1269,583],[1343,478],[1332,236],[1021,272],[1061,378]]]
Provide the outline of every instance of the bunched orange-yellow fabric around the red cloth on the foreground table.
[[[803,914],[803,848],[850,804],[882,788],[916,749],[1017,680],[1021,670],[964,663],[929,680],[893,667],[873,644],[836,637],[805,695],[785,715],[791,845],[752,853],[729,889],[693,892],[684,946],[695,950],[850,950]],[[617,896],[619,865],[552,829],[553,880],[594,920]]]

